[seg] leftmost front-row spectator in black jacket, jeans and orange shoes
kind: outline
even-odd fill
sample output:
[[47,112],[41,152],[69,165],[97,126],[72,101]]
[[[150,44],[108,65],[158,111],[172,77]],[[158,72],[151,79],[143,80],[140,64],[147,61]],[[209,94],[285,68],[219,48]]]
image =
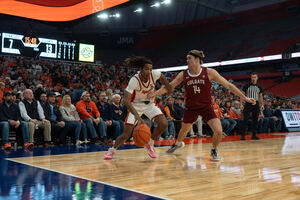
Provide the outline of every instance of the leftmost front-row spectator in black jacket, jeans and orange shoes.
[[0,127],[2,129],[2,140],[4,149],[10,149],[8,141],[9,129],[19,129],[22,132],[24,148],[33,148],[33,143],[29,142],[28,123],[21,121],[21,115],[17,104],[13,103],[10,92],[4,94],[3,103],[0,104]]

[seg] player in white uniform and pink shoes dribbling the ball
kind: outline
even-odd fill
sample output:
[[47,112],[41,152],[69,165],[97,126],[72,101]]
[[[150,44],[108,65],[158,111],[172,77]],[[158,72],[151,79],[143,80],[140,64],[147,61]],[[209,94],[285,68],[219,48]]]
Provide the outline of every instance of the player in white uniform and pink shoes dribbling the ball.
[[155,106],[154,100],[147,99],[149,93],[155,91],[155,82],[159,79],[165,85],[167,92],[172,93],[171,86],[166,77],[157,70],[152,70],[152,61],[141,56],[134,56],[125,60],[126,67],[139,68],[140,72],[135,74],[128,83],[124,94],[124,104],[129,112],[125,119],[124,131],[120,135],[112,148],[104,155],[105,160],[113,158],[117,148],[122,145],[130,136],[135,124],[145,123],[141,116],[144,114],[157,124],[151,134],[150,142],[145,146],[151,158],[157,155],[153,148],[153,143],[168,127],[168,121],[162,111]]

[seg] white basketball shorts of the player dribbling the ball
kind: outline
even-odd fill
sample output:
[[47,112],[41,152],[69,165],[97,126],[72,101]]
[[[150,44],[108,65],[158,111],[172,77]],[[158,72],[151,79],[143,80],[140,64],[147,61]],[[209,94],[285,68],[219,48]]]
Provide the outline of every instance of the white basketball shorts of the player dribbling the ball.
[[[146,115],[151,121],[158,115],[163,115],[160,108],[157,107],[154,103],[144,104],[132,104],[139,116],[142,116],[143,114]],[[127,114],[127,117],[125,119],[125,124],[131,124],[135,125],[137,123],[134,115],[129,112]]]

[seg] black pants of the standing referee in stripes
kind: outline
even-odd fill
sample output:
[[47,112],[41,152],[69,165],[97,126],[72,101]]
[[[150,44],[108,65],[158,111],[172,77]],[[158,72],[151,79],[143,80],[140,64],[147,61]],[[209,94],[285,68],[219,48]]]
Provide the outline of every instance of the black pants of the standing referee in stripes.
[[259,112],[260,112],[260,109],[259,109],[258,101],[256,101],[255,105],[252,105],[250,103],[245,104],[245,107],[243,110],[244,120],[243,120],[243,124],[242,124],[242,132],[241,132],[242,137],[245,137],[245,132],[247,131],[250,113],[252,113],[252,137],[256,136]]

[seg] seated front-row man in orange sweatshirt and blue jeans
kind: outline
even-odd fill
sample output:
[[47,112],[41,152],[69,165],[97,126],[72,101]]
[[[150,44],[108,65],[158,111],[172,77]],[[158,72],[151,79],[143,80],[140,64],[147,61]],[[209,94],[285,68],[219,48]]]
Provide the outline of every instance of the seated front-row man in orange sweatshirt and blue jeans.
[[[80,119],[86,124],[87,130],[91,133],[91,142],[95,144],[106,142],[105,122],[100,119],[97,106],[91,101],[90,94],[87,91],[82,93],[81,100],[76,103],[76,110]],[[102,141],[98,139],[94,124],[99,130]]]

